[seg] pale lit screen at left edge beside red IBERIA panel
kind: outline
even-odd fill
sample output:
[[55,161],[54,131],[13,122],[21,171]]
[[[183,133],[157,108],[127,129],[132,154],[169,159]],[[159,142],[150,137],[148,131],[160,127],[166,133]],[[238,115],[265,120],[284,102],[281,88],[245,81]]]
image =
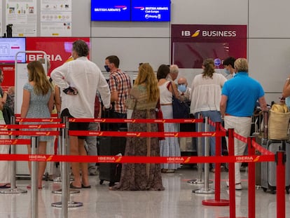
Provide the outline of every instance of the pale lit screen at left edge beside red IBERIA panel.
[[[25,38],[0,38],[0,64],[15,62],[15,55],[25,51]],[[19,63],[25,63],[25,53],[18,54]]]

